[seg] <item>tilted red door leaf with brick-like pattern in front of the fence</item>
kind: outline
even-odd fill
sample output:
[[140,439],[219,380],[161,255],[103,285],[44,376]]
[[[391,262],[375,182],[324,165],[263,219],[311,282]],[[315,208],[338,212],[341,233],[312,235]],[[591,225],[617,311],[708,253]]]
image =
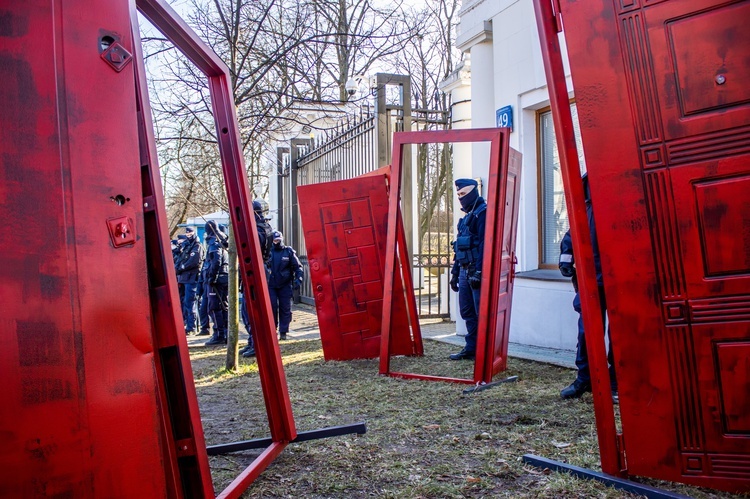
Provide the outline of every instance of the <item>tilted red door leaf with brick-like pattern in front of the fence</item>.
[[[373,175],[297,187],[326,360],[380,354],[386,178]],[[393,349],[396,355],[413,355],[406,299],[398,298],[403,296],[399,283],[393,299]]]

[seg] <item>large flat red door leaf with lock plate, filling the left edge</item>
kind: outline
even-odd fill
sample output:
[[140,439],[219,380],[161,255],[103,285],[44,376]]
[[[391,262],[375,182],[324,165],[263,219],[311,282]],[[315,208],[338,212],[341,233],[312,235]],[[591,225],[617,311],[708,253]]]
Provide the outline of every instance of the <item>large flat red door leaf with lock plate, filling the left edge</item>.
[[0,17],[0,496],[173,495],[133,64],[98,46],[110,33],[132,52],[128,3]]

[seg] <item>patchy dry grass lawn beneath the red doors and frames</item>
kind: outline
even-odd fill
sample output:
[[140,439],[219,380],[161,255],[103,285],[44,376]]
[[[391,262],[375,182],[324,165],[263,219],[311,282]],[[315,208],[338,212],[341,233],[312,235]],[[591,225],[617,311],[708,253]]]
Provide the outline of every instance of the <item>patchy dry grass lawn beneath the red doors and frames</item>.
[[[463,395],[466,385],[379,376],[378,359],[324,362],[318,340],[282,342],[281,350],[298,431],[365,422],[367,433],[289,444],[243,497],[636,497],[521,462],[533,453],[600,469],[591,395],[559,398],[571,370],[511,358],[505,375],[519,382]],[[473,363],[447,360],[453,351],[425,340],[423,358],[394,359],[392,370],[471,377]],[[255,360],[228,373],[222,348],[192,349],[191,359],[207,444],[268,437]],[[211,457],[216,491],[258,453]]]

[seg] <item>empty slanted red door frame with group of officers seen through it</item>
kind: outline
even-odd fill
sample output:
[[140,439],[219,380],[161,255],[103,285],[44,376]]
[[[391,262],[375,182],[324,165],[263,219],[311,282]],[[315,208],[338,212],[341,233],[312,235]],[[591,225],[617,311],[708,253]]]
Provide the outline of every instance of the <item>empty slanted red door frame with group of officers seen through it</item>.
[[[221,154],[224,182],[227,188],[229,213],[237,242],[239,265],[245,282],[245,300],[252,325],[255,349],[257,352],[258,371],[261,387],[268,413],[268,422],[273,443],[234,481],[219,494],[220,498],[239,497],[242,492],[268,467],[286,445],[297,436],[292,414],[286,377],[281,362],[281,352],[276,341],[276,328],[273,324],[268,285],[264,278],[265,271],[261,258],[260,245],[256,237],[255,218],[250,208],[250,196],[247,173],[245,170],[242,149],[240,146],[239,127],[235,115],[232,89],[230,87],[229,69],[224,62],[198,38],[192,29],[163,0],[131,0],[131,26],[137,57],[137,82],[140,104],[145,122],[145,133],[148,138],[147,156],[152,168],[152,181],[159,179],[156,146],[153,138],[151,109],[148,100],[143,54],[138,32],[137,11],[146,17],[164,34],[198,69],[208,78],[213,115]],[[161,186],[158,186],[161,192]],[[159,195],[155,198],[163,200]],[[163,210],[163,206],[161,207]],[[162,213],[165,213],[162,211]],[[166,227],[164,220],[160,220]],[[169,247],[168,231],[160,231],[162,250]],[[183,375],[191,379],[189,363],[183,366]],[[190,419],[200,421],[197,399],[192,395]],[[205,445],[198,449],[201,459],[207,462]],[[207,468],[206,468],[207,469]],[[205,471],[204,471],[205,473]],[[208,481],[210,484],[210,480]]]

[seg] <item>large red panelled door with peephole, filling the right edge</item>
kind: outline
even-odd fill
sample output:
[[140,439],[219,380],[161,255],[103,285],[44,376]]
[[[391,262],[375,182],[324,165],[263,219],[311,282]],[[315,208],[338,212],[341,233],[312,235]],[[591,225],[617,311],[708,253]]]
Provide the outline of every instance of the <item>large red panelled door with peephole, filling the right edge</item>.
[[627,469],[748,491],[750,2],[562,14]]

